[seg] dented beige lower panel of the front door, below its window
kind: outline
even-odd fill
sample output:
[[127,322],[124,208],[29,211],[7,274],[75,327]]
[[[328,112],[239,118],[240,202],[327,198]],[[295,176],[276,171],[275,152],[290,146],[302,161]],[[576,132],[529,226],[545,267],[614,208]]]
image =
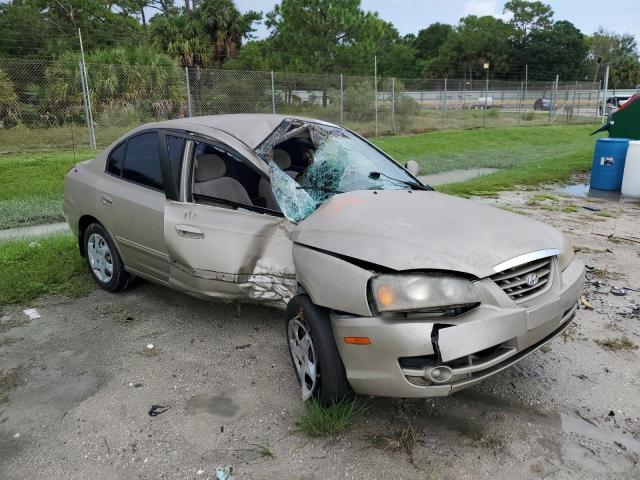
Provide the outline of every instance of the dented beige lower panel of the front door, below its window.
[[167,201],[170,283],[199,296],[286,303],[297,286],[289,232],[282,217]]

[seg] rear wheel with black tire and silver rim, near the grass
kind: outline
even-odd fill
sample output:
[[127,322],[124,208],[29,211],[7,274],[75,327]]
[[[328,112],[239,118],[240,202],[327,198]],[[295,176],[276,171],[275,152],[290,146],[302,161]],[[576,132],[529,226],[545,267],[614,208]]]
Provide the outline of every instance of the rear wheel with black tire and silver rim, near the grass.
[[111,236],[99,223],[91,223],[84,231],[84,251],[89,272],[107,292],[120,292],[131,286],[133,277],[124,269],[122,258]]

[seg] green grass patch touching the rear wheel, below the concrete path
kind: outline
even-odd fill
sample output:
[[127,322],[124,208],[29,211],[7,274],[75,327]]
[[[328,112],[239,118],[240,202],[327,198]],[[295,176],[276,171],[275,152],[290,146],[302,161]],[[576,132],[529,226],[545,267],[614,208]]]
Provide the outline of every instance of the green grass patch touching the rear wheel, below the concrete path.
[[0,243],[0,307],[26,305],[44,294],[74,298],[93,288],[71,235]]

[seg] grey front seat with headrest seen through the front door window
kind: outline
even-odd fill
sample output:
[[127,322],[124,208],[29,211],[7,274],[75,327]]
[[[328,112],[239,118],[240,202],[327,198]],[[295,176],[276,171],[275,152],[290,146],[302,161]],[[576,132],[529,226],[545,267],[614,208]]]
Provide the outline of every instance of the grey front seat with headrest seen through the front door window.
[[235,178],[225,177],[227,166],[219,155],[204,154],[196,157],[193,193],[208,197],[253,205],[242,184]]

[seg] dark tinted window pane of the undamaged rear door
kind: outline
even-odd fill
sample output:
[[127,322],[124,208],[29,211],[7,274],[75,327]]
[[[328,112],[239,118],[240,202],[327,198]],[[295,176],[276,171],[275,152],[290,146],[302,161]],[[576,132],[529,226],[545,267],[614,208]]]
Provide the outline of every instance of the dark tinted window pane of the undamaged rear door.
[[132,182],[164,190],[158,147],[156,132],[130,138],[127,142],[122,176]]

